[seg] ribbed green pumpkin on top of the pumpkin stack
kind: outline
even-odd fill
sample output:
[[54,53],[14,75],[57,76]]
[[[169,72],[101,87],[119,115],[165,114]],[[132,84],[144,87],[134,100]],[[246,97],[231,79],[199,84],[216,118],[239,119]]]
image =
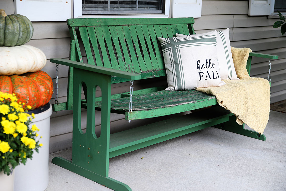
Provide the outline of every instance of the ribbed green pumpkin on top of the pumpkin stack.
[[19,14],[7,15],[0,9],[0,46],[20,46],[33,36],[32,22]]

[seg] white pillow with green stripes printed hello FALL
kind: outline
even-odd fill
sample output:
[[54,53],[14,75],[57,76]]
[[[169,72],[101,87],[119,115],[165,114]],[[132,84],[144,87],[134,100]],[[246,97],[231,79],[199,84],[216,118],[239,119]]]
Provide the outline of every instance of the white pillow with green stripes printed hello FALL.
[[192,37],[158,37],[169,91],[222,86],[217,59],[217,31]]

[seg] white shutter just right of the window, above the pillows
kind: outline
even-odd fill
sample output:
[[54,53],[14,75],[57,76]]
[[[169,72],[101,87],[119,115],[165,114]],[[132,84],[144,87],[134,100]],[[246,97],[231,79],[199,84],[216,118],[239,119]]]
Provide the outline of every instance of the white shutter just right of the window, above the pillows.
[[201,17],[202,0],[173,0],[172,17]]

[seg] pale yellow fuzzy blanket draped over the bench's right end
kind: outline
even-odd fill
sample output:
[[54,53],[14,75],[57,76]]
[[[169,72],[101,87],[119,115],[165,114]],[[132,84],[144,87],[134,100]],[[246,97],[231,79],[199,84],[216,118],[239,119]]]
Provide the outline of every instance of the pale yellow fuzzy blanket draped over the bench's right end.
[[269,119],[270,86],[263,78],[251,78],[246,70],[249,48],[231,47],[233,63],[240,80],[223,80],[219,87],[196,88],[200,92],[214,95],[219,105],[233,113],[237,123],[247,124],[263,134]]

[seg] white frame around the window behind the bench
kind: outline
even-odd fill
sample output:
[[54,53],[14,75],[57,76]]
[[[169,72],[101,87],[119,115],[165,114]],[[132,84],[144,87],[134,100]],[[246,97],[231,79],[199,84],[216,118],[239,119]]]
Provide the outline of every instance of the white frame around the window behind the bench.
[[165,13],[152,15],[82,15],[82,0],[74,0],[74,18],[163,18],[170,15],[170,0],[165,0]]

